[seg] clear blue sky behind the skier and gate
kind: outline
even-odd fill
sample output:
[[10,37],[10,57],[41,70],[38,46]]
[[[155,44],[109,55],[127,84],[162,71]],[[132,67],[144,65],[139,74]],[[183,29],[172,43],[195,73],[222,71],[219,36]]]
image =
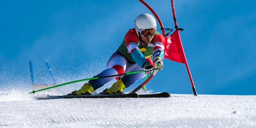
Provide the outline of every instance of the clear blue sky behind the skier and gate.
[[[169,0],[145,2],[165,28],[174,28]],[[174,0],[174,4],[197,93],[256,95],[256,2]],[[141,13],[150,11],[136,0],[1,1],[0,87],[29,87],[30,60],[37,83],[52,82],[46,59],[59,84],[98,74]],[[185,65],[167,59],[164,63],[165,69],[147,88],[193,94]],[[73,91],[68,87],[61,89]]]

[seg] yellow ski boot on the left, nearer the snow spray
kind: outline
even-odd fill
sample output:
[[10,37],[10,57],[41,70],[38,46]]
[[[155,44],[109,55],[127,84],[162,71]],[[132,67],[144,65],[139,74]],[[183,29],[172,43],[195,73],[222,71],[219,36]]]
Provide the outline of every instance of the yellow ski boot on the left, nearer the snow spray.
[[68,95],[92,95],[92,92],[94,91],[93,87],[89,83],[85,83],[81,87],[81,89],[73,91],[72,93],[69,93]]

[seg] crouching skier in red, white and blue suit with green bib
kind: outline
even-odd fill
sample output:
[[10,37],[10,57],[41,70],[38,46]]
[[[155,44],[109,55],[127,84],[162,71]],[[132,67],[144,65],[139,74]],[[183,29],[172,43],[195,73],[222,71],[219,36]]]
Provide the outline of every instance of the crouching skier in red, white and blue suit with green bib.
[[[135,28],[126,33],[121,46],[108,60],[107,69],[94,77],[143,70],[144,73],[116,77],[117,82],[104,90],[107,94],[123,94],[125,88],[143,78],[145,74],[155,74],[156,69],[163,69],[164,43],[165,38],[156,31],[155,18],[148,13],[141,14],[135,19]],[[153,62],[150,59],[152,56]],[[114,78],[89,80],[81,89],[68,95],[92,95],[93,91]]]

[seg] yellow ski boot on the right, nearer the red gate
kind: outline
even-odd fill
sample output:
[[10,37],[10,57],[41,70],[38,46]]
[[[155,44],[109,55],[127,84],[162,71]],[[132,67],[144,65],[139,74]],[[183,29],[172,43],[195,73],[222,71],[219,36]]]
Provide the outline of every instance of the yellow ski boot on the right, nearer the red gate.
[[122,80],[118,80],[117,82],[115,82],[112,87],[110,87],[109,89],[107,89],[105,92],[108,94],[124,94],[124,83]]

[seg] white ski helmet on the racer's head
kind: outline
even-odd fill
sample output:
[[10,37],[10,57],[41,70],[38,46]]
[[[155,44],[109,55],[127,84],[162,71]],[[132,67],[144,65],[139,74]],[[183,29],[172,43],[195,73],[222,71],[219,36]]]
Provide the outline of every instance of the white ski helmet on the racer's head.
[[137,18],[135,19],[135,29],[138,36],[138,32],[141,33],[141,30],[147,30],[152,28],[156,29],[156,20],[152,15],[144,13],[137,16]]

